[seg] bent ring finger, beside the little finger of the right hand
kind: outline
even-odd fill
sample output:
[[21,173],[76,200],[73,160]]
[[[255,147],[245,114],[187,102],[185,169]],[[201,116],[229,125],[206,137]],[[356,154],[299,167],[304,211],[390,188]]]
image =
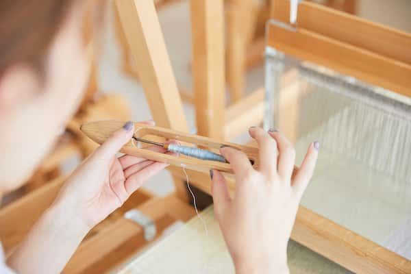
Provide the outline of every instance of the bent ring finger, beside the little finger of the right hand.
[[270,129],[269,134],[277,141],[279,151],[277,172],[280,177],[287,181],[291,179],[295,164],[295,149],[291,142],[280,132]]

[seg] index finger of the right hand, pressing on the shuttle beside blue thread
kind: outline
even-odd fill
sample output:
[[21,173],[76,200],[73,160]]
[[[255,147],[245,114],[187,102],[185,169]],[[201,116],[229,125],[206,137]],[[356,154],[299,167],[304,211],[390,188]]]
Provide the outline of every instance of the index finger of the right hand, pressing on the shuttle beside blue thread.
[[232,147],[221,147],[220,152],[232,166],[236,179],[244,177],[245,174],[250,172],[250,169],[253,169],[244,152],[233,149]]

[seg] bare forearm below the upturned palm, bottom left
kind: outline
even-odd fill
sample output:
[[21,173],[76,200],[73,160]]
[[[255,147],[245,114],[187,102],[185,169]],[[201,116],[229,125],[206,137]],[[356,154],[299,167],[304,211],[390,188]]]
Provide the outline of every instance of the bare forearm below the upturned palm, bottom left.
[[17,273],[60,273],[88,232],[64,201],[40,217],[25,240],[8,259]]

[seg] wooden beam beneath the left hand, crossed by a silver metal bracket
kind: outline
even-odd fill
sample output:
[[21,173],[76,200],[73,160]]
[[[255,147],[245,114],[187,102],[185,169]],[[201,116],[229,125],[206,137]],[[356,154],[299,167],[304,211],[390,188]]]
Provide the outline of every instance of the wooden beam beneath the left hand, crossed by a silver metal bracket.
[[[138,206],[138,210],[149,216],[156,225],[157,235],[173,222],[188,221],[195,215],[195,210],[183,203],[175,195],[153,198]],[[65,273],[102,273],[123,262],[144,245],[144,230],[140,225],[124,218],[104,227],[88,240],[82,242],[79,249],[64,269]]]

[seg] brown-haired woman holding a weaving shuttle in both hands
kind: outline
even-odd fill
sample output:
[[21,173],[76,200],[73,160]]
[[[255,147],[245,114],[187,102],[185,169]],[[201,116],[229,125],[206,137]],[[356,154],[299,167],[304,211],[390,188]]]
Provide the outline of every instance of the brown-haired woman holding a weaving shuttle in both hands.
[[[79,105],[89,73],[82,32],[86,3],[0,3],[2,192],[26,181]],[[129,155],[116,158],[133,132],[126,123],[79,166],[21,245],[0,262],[0,272],[60,273],[90,229],[166,167]],[[319,144],[310,145],[292,175],[295,151],[281,133],[252,127],[249,134],[260,146],[261,166],[255,170],[240,151],[221,148],[237,189],[232,199],[221,173],[210,171],[214,210],[237,273],[288,273],[287,242]]]

